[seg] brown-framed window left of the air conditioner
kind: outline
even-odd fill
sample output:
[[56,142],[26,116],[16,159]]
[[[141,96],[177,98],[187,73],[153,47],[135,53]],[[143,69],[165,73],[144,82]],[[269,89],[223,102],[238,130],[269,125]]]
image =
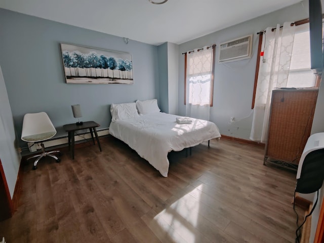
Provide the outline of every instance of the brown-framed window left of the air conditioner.
[[213,106],[215,48],[185,53],[184,104]]

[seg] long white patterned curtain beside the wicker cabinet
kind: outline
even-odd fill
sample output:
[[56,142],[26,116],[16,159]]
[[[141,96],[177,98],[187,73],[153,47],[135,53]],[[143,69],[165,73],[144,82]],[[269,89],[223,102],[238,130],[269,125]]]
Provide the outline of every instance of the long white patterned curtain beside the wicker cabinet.
[[284,23],[282,28],[278,24],[274,31],[272,27],[265,30],[250,134],[253,141],[267,140],[272,90],[287,87],[294,35],[295,25],[291,26],[291,22]]

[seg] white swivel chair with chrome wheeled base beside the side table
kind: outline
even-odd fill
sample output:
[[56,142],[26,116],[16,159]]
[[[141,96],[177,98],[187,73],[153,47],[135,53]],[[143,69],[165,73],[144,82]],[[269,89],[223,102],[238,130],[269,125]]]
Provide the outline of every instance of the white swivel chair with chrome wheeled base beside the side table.
[[23,125],[22,125],[22,133],[21,140],[26,142],[41,142],[42,146],[42,154],[37,154],[32,157],[27,158],[27,160],[31,158],[36,158],[34,161],[33,170],[37,169],[37,163],[39,159],[50,156],[56,160],[58,163],[60,158],[55,156],[53,153],[61,153],[60,151],[51,151],[45,152],[45,147],[43,141],[54,137],[56,134],[56,129],[54,128],[50,117],[45,112],[39,113],[27,113],[24,115]]

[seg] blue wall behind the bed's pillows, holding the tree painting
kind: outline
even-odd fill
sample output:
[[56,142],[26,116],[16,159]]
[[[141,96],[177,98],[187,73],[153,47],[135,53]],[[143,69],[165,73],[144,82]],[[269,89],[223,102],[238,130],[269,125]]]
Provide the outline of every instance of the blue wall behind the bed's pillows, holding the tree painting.
[[[0,9],[0,65],[18,137],[23,115],[46,111],[58,130],[74,123],[71,105],[80,104],[82,120],[108,128],[111,103],[159,98],[157,47]],[[112,24],[112,23],[107,23]],[[134,85],[66,84],[60,43],[132,55]],[[26,146],[22,141],[21,146]]]

